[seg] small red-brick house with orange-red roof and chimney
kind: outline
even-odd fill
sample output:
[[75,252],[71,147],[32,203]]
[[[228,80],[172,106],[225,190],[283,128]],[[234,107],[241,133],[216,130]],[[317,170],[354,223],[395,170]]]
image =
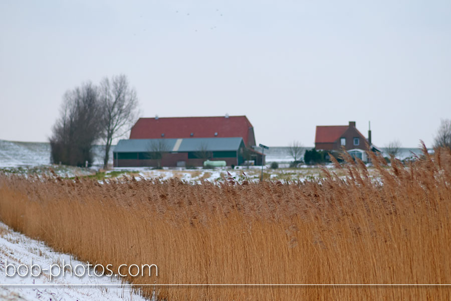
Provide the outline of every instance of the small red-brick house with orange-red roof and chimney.
[[351,156],[367,162],[367,144],[373,152],[379,151],[371,144],[371,130],[368,130],[368,139],[365,138],[356,128],[355,121],[349,121],[348,125],[316,126],[315,148],[318,150],[340,151],[344,147]]

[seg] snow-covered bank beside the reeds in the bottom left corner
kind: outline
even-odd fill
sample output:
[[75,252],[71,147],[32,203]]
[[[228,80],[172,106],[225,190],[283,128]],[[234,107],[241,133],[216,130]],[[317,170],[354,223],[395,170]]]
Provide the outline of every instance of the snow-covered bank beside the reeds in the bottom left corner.
[[[114,276],[65,275],[50,280],[48,272],[42,272],[37,277],[6,275],[5,262],[18,267],[20,264],[30,266],[30,260],[43,269],[48,269],[52,264],[61,265],[63,260],[65,263],[70,262],[72,266],[83,264],[70,255],[53,251],[40,241],[12,231],[0,222],[0,300],[144,300],[140,295],[133,293],[129,285],[122,285]],[[10,267],[9,274],[12,273]],[[22,267],[21,273],[25,274],[25,267]],[[35,273],[39,274],[36,269]],[[54,273],[57,273],[57,270]]]

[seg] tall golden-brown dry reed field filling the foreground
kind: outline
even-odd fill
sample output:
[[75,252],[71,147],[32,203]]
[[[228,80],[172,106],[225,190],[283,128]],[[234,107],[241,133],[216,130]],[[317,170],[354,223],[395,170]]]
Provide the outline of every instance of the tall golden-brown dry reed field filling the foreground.
[[380,181],[346,154],[346,179],[305,183],[0,176],[0,219],[82,261],[157,264],[124,280],[161,300],[451,299],[384,285],[451,284],[451,152],[389,168],[371,156]]

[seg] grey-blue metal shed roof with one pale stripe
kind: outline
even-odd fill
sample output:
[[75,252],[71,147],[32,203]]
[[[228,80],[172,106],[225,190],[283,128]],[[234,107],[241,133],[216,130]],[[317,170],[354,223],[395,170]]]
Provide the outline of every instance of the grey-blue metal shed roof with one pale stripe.
[[[157,148],[164,148],[164,152],[210,152],[218,150],[238,150],[242,137],[216,138],[164,138],[164,139],[123,139],[114,147],[114,153],[146,153],[155,152]],[[163,147],[159,146],[162,145]]]

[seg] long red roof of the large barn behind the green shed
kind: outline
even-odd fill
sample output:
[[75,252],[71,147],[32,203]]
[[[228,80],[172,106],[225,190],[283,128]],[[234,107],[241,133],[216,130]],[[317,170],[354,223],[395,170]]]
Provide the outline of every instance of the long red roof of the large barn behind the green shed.
[[206,137],[242,137],[246,145],[255,145],[246,116],[139,118],[130,132],[130,139]]

